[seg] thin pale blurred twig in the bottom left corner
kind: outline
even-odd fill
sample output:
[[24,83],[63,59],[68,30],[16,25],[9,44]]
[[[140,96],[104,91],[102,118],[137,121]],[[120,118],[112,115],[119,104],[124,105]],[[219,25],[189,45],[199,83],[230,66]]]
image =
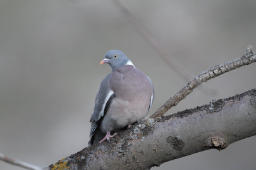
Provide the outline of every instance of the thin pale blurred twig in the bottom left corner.
[[9,164],[13,164],[15,166],[23,167],[25,169],[33,169],[33,170],[42,170],[42,168],[38,166],[34,166],[31,164],[28,164],[26,162],[23,162],[21,160],[12,159],[10,157],[6,157],[3,153],[0,153],[0,160],[3,160],[4,162],[7,162]]

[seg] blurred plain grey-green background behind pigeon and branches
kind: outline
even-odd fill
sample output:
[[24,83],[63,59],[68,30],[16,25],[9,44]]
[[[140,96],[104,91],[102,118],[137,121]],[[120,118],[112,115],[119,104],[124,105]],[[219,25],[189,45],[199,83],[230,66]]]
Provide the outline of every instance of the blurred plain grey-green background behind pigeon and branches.
[[[150,76],[156,97],[150,115],[190,78],[256,51],[256,1],[120,1],[152,34],[161,57],[115,1],[0,1],[0,152],[47,167],[88,146],[100,81],[111,69],[104,54],[122,50]],[[183,70],[178,70],[183,71]],[[175,113],[255,88],[256,65],[208,81]],[[255,129],[256,131],[256,129]],[[72,138],[70,138],[72,136]],[[256,137],[152,169],[255,169]],[[0,161],[0,169],[21,169]]]

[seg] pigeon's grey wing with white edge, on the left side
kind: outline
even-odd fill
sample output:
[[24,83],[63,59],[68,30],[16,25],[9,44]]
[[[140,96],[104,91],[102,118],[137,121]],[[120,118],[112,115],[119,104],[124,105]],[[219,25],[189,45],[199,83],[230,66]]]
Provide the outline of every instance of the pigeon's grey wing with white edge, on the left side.
[[92,122],[92,124],[89,143],[93,142],[92,137],[95,134],[97,127],[99,127],[100,120],[102,120],[104,114],[106,114],[106,111],[108,111],[109,105],[111,104],[111,101],[114,97],[114,92],[109,89],[108,80],[110,75],[111,74],[108,74],[100,83],[100,88],[95,98],[93,113],[90,119],[90,122]]

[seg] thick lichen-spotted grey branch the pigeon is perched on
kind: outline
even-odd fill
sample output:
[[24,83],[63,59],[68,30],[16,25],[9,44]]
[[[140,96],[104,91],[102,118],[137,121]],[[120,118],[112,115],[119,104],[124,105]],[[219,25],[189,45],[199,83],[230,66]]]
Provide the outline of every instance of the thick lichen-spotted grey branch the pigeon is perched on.
[[84,148],[52,169],[150,169],[256,135],[256,89],[163,118],[148,118],[111,143]]

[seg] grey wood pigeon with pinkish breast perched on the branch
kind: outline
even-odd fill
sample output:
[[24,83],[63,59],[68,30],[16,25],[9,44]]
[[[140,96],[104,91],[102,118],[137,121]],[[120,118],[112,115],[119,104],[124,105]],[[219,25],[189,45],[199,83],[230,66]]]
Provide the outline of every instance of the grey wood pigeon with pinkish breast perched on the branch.
[[95,98],[89,146],[102,143],[127,125],[144,118],[154,100],[154,87],[148,76],[136,69],[120,50],[110,50],[100,65],[108,63],[112,73],[100,83]]

